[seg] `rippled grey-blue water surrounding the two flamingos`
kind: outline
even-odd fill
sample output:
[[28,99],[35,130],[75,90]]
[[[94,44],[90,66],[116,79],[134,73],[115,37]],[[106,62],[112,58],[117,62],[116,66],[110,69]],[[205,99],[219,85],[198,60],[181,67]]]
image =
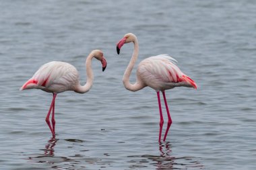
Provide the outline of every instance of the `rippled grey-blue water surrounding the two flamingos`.
[[[255,169],[256,1],[1,1],[1,169]],[[121,81],[132,54],[115,44],[133,32],[139,58],[170,54],[197,91],[166,91],[172,126],[158,143],[158,103],[150,88]],[[19,91],[40,65],[69,62],[94,85],[61,93],[57,140],[44,122],[52,95]],[[135,71],[131,75],[135,81]],[[162,103],[163,104],[163,103]],[[166,111],[164,111],[164,128]]]

